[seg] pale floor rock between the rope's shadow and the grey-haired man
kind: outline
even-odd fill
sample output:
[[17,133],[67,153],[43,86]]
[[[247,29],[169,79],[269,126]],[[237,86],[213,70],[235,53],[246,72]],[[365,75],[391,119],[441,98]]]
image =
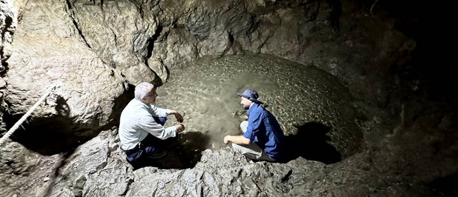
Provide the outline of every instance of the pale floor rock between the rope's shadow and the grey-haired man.
[[110,132],[116,130],[102,131],[69,156],[69,162],[60,167],[60,175],[48,191],[49,196],[125,195],[132,182],[132,168],[119,148],[110,148],[109,144],[119,141],[117,135]]

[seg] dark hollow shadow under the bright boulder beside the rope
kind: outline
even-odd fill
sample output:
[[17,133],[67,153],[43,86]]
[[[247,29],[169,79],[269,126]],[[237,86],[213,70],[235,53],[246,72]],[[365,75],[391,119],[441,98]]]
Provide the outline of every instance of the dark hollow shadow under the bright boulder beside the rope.
[[[30,117],[19,129],[17,129],[11,139],[24,145],[26,148],[42,155],[55,155],[59,153],[71,152],[77,146],[87,142],[98,135],[100,131],[109,130],[119,126],[119,118],[124,107],[133,98],[134,87],[128,87],[123,94],[113,100],[112,113],[109,116],[109,123],[100,127],[97,122],[93,124],[74,124],[70,117],[70,107],[66,100],[57,97],[54,107],[57,115],[51,117]],[[23,114],[11,116],[4,114],[6,127],[11,128]],[[94,130],[98,128],[98,130]]]

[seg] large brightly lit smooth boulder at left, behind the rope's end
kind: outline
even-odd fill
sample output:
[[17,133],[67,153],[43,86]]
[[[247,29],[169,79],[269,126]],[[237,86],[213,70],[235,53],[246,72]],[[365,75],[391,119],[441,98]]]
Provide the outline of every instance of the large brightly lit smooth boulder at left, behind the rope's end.
[[3,99],[15,117],[24,114],[47,87],[58,84],[56,94],[34,112],[28,129],[44,135],[94,136],[115,118],[113,109],[126,84],[118,70],[103,64],[80,39],[66,6],[65,1],[27,3],[12,43]]

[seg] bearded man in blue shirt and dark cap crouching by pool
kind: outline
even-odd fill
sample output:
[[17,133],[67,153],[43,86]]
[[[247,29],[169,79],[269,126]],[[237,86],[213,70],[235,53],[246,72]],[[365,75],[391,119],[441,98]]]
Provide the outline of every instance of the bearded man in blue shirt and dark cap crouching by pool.
[[243,135],[226,135],[225,144],[232,142],[235,151],[251,160],[274,162],[284,156],[285,136],[277,119],[267,111],[253,89],[246,89],[240,96],[240,104],[247,109],[248,121],[240,128]]

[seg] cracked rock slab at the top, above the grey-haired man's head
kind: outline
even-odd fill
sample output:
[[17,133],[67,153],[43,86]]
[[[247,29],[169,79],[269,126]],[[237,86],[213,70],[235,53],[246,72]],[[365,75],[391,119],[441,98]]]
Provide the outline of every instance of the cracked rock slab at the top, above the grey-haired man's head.
[[70,6],[84,41],[104,64],[120,70],[133,85],[155,79],[146,60],[158,23],[149,10],[130,1],[73,1]]

